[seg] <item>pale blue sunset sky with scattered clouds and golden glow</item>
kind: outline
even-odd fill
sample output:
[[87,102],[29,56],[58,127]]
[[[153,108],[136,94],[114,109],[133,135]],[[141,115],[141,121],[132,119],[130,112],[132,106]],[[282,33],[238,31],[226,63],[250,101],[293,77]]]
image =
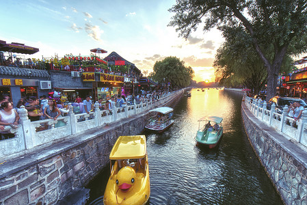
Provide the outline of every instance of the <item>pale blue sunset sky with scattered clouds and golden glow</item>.
[[[129,2],[129,3],[128,3]],[[140,70],[176,56],[191,66],[196,81],[214,81],[215,51],[223,42],[216,30],[202,27],[187,40],[168,27],[176,1],[5,1],[1,3],[0,40],[34,46],[31,57],[90,55],[90,49],[116,51]],[[21,55],[22,57],[26,55]]]

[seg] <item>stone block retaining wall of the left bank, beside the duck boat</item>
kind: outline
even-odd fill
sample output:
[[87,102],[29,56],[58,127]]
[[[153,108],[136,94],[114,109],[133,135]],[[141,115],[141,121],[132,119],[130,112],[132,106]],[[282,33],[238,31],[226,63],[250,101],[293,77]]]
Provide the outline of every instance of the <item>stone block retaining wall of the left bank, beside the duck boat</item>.
[[[167,105],[176,104],[181,97],[179,94]],[[68,141],[32,150],[21,159],[0,161],[0,169],[5,166],[0,175],[0,205],[56,204],[85,187],[109,163],[116,139],[141,133],[149,115],[146,112],[98,126]]]

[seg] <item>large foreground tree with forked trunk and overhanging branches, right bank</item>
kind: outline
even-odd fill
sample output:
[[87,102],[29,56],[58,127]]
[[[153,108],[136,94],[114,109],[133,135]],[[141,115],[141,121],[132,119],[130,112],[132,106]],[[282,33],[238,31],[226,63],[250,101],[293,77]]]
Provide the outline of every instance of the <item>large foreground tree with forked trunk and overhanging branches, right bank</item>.
[[[306,51],[307,1],[177,0],[170,26],[187,38],[200,23],[204,31],[241,28],[267,70],[267,98],[276,94],[278,73],[287,52]],[[272,46],[273,52],[266,53]],[[288,51],[289,49],[293,49]]]

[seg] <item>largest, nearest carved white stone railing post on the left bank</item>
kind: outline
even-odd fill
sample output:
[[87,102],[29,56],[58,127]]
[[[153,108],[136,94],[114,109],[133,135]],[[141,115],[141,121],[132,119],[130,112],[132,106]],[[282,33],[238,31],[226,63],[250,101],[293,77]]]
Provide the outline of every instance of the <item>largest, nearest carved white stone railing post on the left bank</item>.
[[28,118],[28,111],[25,109],[25,106],[21,106],[21,109],[18,112],[20,117],[20,124],[22,126],[23,133],[21,137],[24,137],[25,140],[25,148],[30,149],[34,147],[34,131],[31,128],[31,121]]

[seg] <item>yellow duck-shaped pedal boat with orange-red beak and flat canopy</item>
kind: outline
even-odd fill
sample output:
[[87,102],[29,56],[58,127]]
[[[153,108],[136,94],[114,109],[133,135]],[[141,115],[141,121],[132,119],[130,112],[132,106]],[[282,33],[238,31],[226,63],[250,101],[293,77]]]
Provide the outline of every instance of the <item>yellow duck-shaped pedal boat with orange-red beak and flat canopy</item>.
[[145,135],[118,137],[109,158],[111,175],[103,203],[146,204],[150,182]]

